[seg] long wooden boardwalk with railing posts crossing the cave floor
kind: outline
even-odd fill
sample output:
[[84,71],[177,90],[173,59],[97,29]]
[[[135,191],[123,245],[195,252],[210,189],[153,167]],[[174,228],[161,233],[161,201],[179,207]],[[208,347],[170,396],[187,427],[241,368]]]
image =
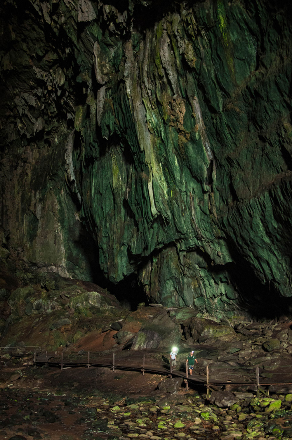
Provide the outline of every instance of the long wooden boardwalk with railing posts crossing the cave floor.
[[[18,347],[2,347],[2,351],[13,352]],[[182,368],[172,369],[169,365],[169,359],[161,356],[160,352],[153,351],[121,351],[112,352],[105,355],[99,352],[47,352],[45,347],[19,347],[24,352],[32,354],[34,352],[34,364],[37,366],[47,365],[59,367],[62,369],[68,367],[105,367],[111,370],[128,370],[139,373],[160,374],[169,377],[182,378],[188,388],[188,384],[204,386],[209,390],[213,389],[233,389],[237,387],[250,389],[252,391],[263,388],[269,390],[270,385],[290,386],[292,391],[292,365],[282,365],[277,371],[259,368],[259,366],[237,366],[216,367],[215,363],[210,366],[200,367],[193,370],[193,374],[188,375],[188,370]],[[0,347],[1,349],[1,347]],[[18,355],[16,355],[18,356]],[[19,355],[21,356],[21,355]],[[180,364],[183,365],[182,363]],[[267,391],[268,393],[268,391]]]

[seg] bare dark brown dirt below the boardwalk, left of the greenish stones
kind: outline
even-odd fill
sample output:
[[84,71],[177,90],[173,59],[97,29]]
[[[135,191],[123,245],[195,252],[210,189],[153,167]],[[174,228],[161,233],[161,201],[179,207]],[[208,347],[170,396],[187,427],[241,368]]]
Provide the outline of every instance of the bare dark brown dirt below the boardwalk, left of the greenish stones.
[[[92,438],[94,430],[90,428],[92,418],[88,408],[107,408],[109,400],[111,404],[122,405],[126,398],[154,396],[157,385],[165,380],[169,379],[158,374],[142,375],[137,371],[112,371],[103,367],[61,371],[59,367],[2,366],[0,438]],[[185,391],[182,389],[181,393]],[[98,430],[98,437],[93,438],[108,439],[109,433]]]

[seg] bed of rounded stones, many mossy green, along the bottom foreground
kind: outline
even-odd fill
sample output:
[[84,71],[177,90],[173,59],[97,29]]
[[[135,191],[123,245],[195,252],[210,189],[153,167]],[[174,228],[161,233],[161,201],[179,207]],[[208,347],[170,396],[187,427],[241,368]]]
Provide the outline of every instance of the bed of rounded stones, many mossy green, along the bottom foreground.
[[[187,404],[171,405],[168,414],[164,414],[163,410],[154,407],[153,403],[149,403],[149,407],[145,402],[143,405],[131,403],[131,405],[127,406],[124,403],[110,403],[110,400],[95,400],[95,403],[93,403],[89,398],[85,397],[81,404],[78,397],[66,397],[65,399],[67,400],[64,400],[64,397],[54,396],[51,399],[52,404],[49,405],[48,396],[44,397],[42,394],[38,394],[38,392],[34,392],[29,398],[25,394],[20,396],[19,391],[18,394],[12,390],[7,390],[8,392],[11,393],[11,398],[8,398],[0,405],[2,411],[5,410],[8,413],[17,405],[24,408],[26,400],[29,400],[29,405],[32,405],[33,411],[31,409],[24,409],[22,411],[27,412],[23,412],[22,417],[18,413],[15,415],[15,419],[12,416],[10,417],[9,422],[21,425],[22,423],[27,423],[25,417],[30,412],[29,423],[31,427],[27,431],[22,429],[22,433],[18,431],[17,434],[15,433],[10,438],[7,436],[7,440],[28,440],[26,435],[33,436],[33,440],[45,440],[46,433],[41,432],[40,435],[40,430],[36,428],[50,420],[62,422],[62,417],[58,417],[59,413],[57,411],[64,412],[65,417],[66,414],[69,414],[69,411],[72,412],[72,407],[76,407],[80,421],[76,420],[76,424],[84,425],[84,436],[87,434],[91,435],[91,432],[98,435],[100,426],[99,432],[102,432],[103,429],[108,429],[106,431],[108,434],[115,434],[119,439],[162,440],[167,438],[168,440],[193,440],[208,437],[214,439],[219,436],[222,440],[249,440],[254,438],[258,440],[272,440],[274,437],[272,432],[263,433],[263,426],[271,425],[272,423],[275,425],[280,424],[280,422],[277,423],[276,413],[271,414],[270,412],[265,412],[265,408],[261,408],[260,403],[265,402],[263,396],[257,400],[253,395],[248,400],[243,395],[239,402],[234,405],[234,409],[230,410],[229,408],[219,408],[211,404],[206,405],[188,395],[186,397]],[[287,398],[284,395],[273,395],[271,402],[273,401],[280,405],[280,401],[283,403],[289,401],[289,399],[291,399],[291,395]],[[124,407],[121,406],[123,404]],[[285,410],[288,411],[290,405],[288,407],[281,407],[282,418],[285,418]],[[263,411],[258,411],[257,408]],[[153,411],[150,411],[150,409]],[[184,409],[187,409],[187,412],[183,411]],[[205,419],[202,421],[200,417],[197,417],[198,414],[204,414]],[[45,416],[46,418],[44,418]],[[286,418],[288,416],[287,412]],[[34,426],[36,428],[33,428]],[[0,437],[1,435],[4,437],[4,430],[0,431]],[[278,438],[279,440],[287,440],[288,437],[285,437],[284,433]]]

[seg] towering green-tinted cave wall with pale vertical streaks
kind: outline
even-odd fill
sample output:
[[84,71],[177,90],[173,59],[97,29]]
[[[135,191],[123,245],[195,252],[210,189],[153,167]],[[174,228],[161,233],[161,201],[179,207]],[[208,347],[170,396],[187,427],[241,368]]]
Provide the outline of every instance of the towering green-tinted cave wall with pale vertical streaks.
[[217,317],[289,304],[291,6],[1,8],[4,264],[136,273]]

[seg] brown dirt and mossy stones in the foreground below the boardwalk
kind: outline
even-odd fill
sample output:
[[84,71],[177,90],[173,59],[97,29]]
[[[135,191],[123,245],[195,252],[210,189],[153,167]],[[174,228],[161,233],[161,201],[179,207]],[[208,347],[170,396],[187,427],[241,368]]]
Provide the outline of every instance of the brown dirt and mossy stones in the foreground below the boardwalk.
[[248,387],[217,387],[207,400],[204,388],[187,390],[182,378],[104,367],[61,371],[36,367],[32,356],[11,356],[1,359],[0,386],[5,440],[292,437],[289,385],[259,398]]

